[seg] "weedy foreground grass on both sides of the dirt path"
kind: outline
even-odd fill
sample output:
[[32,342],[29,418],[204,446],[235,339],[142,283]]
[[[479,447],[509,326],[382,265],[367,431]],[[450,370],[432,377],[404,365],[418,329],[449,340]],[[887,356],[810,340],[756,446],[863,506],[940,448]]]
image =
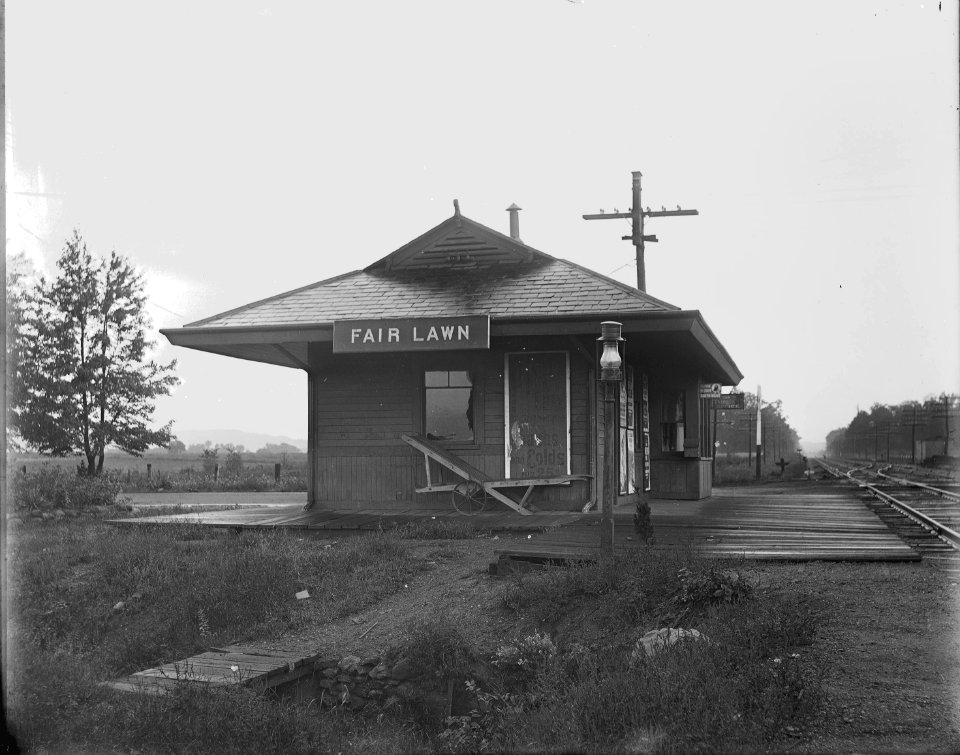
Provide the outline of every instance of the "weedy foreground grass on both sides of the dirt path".
[[[483,610],[498,614],[502,641],[492,656],[463,639],[457,618],[421,617],[395,652],[427,687],[455,683],[461,704],[448,719],[429,695],[363,718],[251,690],[184,685],[157,699],[97,686],[352,615],[436,568],[448,546],[423,538],[472,535],[411,527],[330,544],[26,520],[10,554],[8,721],[34,752],[686,752],[762,749],[815,710],[817,679],[793,653],[816,633],[815,607],[757,598],[682,549],[639,550],[614,584],[595,566],[493,583],[500,597]],[[316,596],[308,612],[294,599],[302,589]],[[646,629],[694,625],[709,641],[637,652]]]

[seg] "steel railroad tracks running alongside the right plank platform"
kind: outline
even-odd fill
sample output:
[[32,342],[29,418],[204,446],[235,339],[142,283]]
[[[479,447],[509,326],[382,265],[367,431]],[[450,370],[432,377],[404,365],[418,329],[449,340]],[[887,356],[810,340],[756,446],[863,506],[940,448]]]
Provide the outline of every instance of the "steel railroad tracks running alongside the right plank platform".
[[954,481],[910,479],[891,474],[889,465],[816,462],[866,491],[867,506],[924,561],[960,577],[960,492]]

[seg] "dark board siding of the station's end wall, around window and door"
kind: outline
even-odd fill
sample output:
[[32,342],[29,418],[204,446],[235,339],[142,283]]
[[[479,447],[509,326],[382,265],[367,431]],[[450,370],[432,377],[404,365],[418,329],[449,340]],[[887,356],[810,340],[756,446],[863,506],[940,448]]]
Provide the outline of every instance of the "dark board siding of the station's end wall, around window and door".
[[[494,479],[504,477],[505,349],[472,354],[480,389],[475,408],[476,443],[451,451]],[[588,424],[587,365],[570,359],[571,472],[587,474],[591,430]],[[420,433],[422,372],[442,369],[435,355],[383,354],[333,357],[317,349],[311,357],[308,431],[314,449],[313,488],[320,505],[360,506],[447,503],[449,494],[418,494],[427,484],[423,456],[400,438]],[[459,477],[432,463],[434,483]],[[576,509],[590,496],[589,484],[540,488],[531,502],[541,508]],[[522,491],[521,491],[522,492]],[[519,496],[518,496],[519,497]]]

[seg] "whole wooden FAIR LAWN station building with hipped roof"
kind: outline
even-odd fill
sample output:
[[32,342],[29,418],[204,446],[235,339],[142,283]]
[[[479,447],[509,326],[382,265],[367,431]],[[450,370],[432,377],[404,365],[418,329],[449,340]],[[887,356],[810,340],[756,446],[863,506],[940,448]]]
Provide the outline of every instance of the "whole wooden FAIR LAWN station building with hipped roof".
[[[182,328],[171,343],[307,373],[308,506],[434,507],[472,479],[519,513],[711,495],[705,386],[740,371],[696,310],[454,215],[369,267]],[[603,448],[600,323],[623,325]]]

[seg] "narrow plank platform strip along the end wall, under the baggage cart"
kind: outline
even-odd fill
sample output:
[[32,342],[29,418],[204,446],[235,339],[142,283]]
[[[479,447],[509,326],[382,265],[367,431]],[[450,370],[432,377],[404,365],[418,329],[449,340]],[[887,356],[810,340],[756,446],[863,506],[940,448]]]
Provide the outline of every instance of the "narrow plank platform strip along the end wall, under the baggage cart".
[[163,516],[141,516],[128,519],[112,519],[118,526],[149,526],[162,524],[202,524],[233,530],[247,529],[292,529],[315,533],[344,531],[376,531],[391,529],[408,522],[435,517],[468,521],[477,529],[500,532],[537,532],[546,527],[557,527],[577,521],[582,514],[572,511],[541,511],[528,516],[519,516],[509,509],[494,509],[473,516],[464,516],[453,510],[408,508],[371,508],[350,511],[333,509],[303,510],[299,504],[248,507],[220,511],[183,512]]

